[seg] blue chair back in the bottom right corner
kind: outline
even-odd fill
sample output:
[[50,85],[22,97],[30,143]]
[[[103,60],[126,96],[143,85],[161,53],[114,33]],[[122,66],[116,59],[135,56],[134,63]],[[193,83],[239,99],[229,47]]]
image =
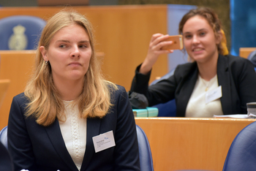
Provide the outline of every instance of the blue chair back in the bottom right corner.
[[236,135],[227,153],[223,171],[256,170],[256,122]]

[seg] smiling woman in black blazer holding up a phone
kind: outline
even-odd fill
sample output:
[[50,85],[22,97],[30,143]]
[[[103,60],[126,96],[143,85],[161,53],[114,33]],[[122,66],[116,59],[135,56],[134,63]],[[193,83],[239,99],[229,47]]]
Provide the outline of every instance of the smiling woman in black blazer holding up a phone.
[[148,86],[152,66],[169,35],[154,34],[143,64],[137,67],[130,91],[144,94],[149,106],[176,99],[177,117],[213,117],[247,113],[256,102],[256,74],[245,58],[223,55],[221,24],[212,9],[190,10],[179,23],[184,47],[192,62],[176,67],[173,76]]

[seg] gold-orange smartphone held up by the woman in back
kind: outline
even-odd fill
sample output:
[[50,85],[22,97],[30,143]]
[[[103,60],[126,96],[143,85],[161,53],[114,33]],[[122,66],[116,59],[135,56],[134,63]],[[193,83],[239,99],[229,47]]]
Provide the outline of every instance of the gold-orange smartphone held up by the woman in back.
[[175,36],[170,36],[167,39],[165,39],[164,41],[173,41],[172,45],[166,45],[163,46],[161,49],[162,50],[181,50],[183,49],[183,39],[182,39],[182,35],[175,35]]

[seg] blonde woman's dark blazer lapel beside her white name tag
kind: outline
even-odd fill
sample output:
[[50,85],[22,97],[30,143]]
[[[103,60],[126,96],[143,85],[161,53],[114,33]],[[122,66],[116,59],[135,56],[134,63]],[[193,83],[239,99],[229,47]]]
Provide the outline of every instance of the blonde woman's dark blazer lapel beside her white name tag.
[[86,170],[91,163],[91,158],[95,153],[94,143],[92,137],[99,135],[101,119],[99,118],[87,118],[87,134],[86,134],[86,153],[83,157],[83,164],[81,170]]

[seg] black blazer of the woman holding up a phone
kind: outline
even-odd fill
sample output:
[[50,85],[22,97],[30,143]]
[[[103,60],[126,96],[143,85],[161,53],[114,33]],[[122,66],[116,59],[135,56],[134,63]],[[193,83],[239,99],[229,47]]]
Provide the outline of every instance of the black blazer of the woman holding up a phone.
[[[197,63],[178,65],[173,76],[149,87],[150,73],[140,74],[139,69],[140,66],[136,69],[130,91],[144,94],[149,106],[176,99],[176,116],[184,117],[197,81]],[[252,63],[237,56],[219,55],[217,77],[219,86],[222,86],[220,101],[223,113],[247,113],[246,103],[256,102],[256,74]]]

